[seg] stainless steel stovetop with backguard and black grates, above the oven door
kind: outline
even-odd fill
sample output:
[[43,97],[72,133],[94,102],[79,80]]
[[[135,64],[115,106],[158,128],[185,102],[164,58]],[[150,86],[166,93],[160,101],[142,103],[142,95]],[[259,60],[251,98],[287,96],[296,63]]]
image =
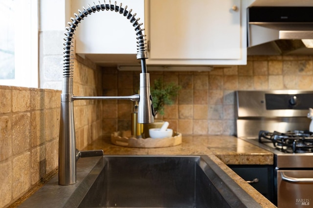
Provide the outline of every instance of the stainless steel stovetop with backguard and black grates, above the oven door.
[[313,168],[313,91],[239,90],[236,104],[237,137],[273,153],[275,168]]

